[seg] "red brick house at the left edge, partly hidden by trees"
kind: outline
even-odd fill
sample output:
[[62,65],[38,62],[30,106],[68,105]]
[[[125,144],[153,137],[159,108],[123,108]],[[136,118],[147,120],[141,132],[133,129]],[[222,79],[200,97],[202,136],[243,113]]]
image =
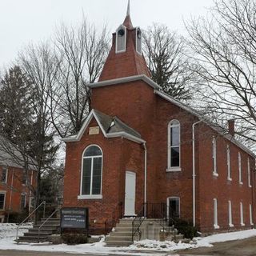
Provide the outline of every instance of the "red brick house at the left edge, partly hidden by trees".
[[31,190],[36,185],[36,171],[30,165],[25,171],[22,155],[0,136],[0,222],[8,222],[10,214],[30,210],[34,206]]

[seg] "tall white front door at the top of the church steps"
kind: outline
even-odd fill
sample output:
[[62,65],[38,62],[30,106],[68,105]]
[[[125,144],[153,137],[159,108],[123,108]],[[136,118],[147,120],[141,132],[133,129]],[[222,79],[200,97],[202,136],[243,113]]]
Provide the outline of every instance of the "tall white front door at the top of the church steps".
[[136,174],[126,171],[125,216],[135,215]]

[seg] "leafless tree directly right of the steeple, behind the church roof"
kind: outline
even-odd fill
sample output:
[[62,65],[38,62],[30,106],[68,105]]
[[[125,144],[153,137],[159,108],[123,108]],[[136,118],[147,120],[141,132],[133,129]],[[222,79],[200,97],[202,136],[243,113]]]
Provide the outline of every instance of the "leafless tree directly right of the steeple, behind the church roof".
[[144,31],[143,38],[143,50],[154,82],[174,98],[191,98],[188,84],[193,72],[188,66],[185,40],[158,24]]

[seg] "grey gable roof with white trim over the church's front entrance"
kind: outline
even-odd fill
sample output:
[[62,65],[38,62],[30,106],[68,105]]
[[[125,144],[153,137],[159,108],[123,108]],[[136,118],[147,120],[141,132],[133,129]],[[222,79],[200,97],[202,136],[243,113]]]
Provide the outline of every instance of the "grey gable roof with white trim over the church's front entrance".
[[90,114],[86,118],[85,122],[82,125],[82,128],[79,130],[78,134],[72,135],[70,137],[62,138],[63,142],[78,142],[82,138],[86,128],[88,127],[92,118],[95,118],[98,122],[98,126],[102,130],[102,134],[106,138],[126,138],[130,141],[137,143],[145,143],[136,130],[127,126],[126,123],[122,122],[118,117],[110,117],[107,114],[103,114],[98,110],[91,110]]

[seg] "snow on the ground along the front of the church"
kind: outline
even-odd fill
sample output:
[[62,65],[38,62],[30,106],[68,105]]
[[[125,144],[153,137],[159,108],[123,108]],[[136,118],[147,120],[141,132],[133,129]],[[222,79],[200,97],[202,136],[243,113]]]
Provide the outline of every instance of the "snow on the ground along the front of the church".
[[[167,251],[184,250],[198,248],[202,246],[213,246],[214,242],[226,242],[244,238],[250,238],[256,236],[256,230],[244,230],[238,232],[230,232],[223,234],[214,234],[205,238],[194,238],[193,242],[190,243],[175,243],[175,242],[159,242],[153,240],[142,240],[135,242],[134,245],[129,247],[105,247],[104,237],[100,242],[93,244],[82,244],[76,246],[52,245],[48,242],[39,244],[28,244],[20,243],[16,244],[14,239],[16,237],[16,224],[4,224],[0,223],[0,250],[34,250],[34,251],[50,251],[50,252],[67,252],[67,253],[78,253],[78,254],[118,254],[118,255],[163,255]],[[24,225],[20,229],[19,234],[26,232],[30,228],[29,225]]]

